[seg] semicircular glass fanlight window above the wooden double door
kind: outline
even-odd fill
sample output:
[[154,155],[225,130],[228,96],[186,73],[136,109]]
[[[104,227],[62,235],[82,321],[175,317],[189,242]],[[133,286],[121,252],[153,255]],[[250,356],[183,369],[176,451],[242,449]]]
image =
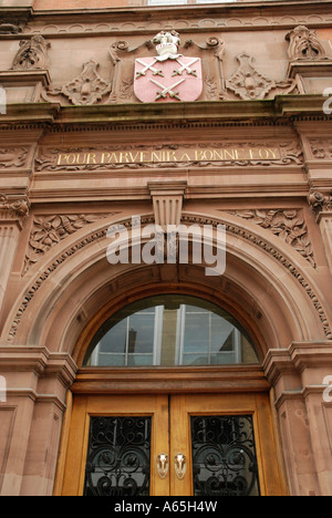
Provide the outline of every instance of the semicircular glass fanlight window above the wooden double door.
[[201,299],[160,296],[124,308],[94,336],[84,365],[174,366],[258,363],[229,313]]

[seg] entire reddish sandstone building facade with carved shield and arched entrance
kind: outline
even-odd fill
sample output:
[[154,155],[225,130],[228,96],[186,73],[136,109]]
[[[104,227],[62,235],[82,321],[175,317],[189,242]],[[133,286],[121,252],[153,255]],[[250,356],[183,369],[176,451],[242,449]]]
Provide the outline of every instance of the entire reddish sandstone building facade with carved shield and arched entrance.
[[[0,494],[82,495],[91,415],[153,415],[151,494],[197,494],[184,416],[206,413],[253,418],[259,494],[331,495],[332,2],[164,3],[1,3]],[[225,273],[110,265],[135,218],[224,225]],[[226,311],[258,361],[85,362],[170,294]]]

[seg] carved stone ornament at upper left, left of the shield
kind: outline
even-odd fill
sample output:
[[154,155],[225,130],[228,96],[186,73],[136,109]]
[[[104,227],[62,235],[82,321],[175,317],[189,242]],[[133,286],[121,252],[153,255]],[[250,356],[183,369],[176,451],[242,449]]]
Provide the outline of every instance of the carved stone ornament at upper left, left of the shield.
[[51,46],[41,35],[22,40],[12,70],[45,70],[49,68],[48,49]]

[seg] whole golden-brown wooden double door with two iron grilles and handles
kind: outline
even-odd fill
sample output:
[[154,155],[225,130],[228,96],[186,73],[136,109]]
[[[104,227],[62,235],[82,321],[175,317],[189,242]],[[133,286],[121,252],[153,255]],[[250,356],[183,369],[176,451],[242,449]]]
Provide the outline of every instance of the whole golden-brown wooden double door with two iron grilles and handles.
[[74,396],[63,496],[274,496],[267,394]]

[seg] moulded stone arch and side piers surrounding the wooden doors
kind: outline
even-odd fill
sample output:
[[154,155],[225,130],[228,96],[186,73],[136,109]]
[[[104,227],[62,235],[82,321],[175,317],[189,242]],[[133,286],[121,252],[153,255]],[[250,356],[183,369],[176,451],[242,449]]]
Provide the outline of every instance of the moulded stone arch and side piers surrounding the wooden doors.
[[[194,220],[191,215],[184,215],[184,218],[185,221],[186,218]],[[197,220],[197,216],[195,218]],[[28,469],[28,475],[23,481],[21,479],[22,493],[31,490],[37,476],[44,478],[45,490],[51,493],[56,466],[55,493],[63,487],[70,431],[66,423],[71,423],[70,397],[64,413],[65,393],[81,393],[82,397],[89,394],[96,396],[98,393],[104,397],[107,392],[110,396],[117,393],[117,397],[125,394],[135,394],[136,397],[156,388],[159,382],[157,371],[149,372],[143,383],[145,386],[142,386],[142,375],[136,374],[135,377],[135,373],[128,376],[128,372],[107,372],[106,377],[103,377],[101,373],[84,373],[81,370],[90,339],[107,315],[153,294],[183,293],[203,298],[224,308],[246,329],[262,365],[250,367],[251,370],[237,367],[231,374],[226,372],[225,367],[211,369],[200,374],[198,371],[172,370],[167,373],[168,385],[166,383],[162,391],[159,388],[160,397],[172,393],[189,397],[190,393],[195,393],[210,394],[212,401],[214,393],[226,394],[235,388],[237,394],[234,394],[234,397],[237,402],[234,401],[234,404],[238,404],[239,393],[248,392],[249,388],[252,394],[269,394],[272,386],[276,391],[272,402],[277,400],[279,413],[279,422],[274,422],[273,405],[268,404],[273,441],[277,444],[274,466],[278,466],[280,473],[281,450],[295,448],[295,441],[289,433],[292,419],[298,428],[302,426],[302,441],[310,448],[311,431],[303,419],[299,419],[300,414],[305,415],[305,403],[300,398],[299,391],[295,397],[293,393],[290,394],[287,383],[289,382],[290,386],[301,383],[295,365],[301,355],[300,345],[310,344],[311,340],[321,341],[323,352],[329,323],[324,315],[319,286],[305,270],[304,259],[291,247],[282,247],[278,238],[268,231],[260,231],[257,236],[253,226],[246,224],[246,228],[240,227],[238,219],[230,215],[225,215],[222,220],[216,217],[217,220],[226,224],[228,229],[228,267],[221,278],[207,278],[203,268],[190,263],[110,267],[105,259],[108,246],[105,236],[114,219],[93,224],[89,231],[86,228],[82,229],[70,244],[60,244],[56,250],[52,250],[44,258],[43,265],[31,269],[20,298],[12,305],[3,328],[3,336],[10,344],[12,355],[22,355],[24,349],[24,365],[29,365],[29,370],[34,373],[34,401],[31,400],[31,391],[30,396],[25,394],[25,410],[29,408],[33,422],[25,445],[27,458],[29,460],[29,456],[37,449],[49,450],[51,454],[39,475],[29,475],[29,462],[25,463],[24,469],[25,473]],[[72,391],[68,392],[70,386]],[[247,406],[238,412],[249,412],[251,403],[247,402]],[[102,407],[103,404],[98,404]],[[174,405],[181,406],[180,400]],[[220,408],[222,402],[218,402],[218,405]],[[217,412],[214,408],[210,410],[211,413]],[[288,412],[289,408],[294,412]],[[101,410],[97,411],[100,412]],[[219,410],[220,412],[227,412],[227,406],[224,411]],[[252,413],[255,412],[251,410]],[[63,414],[65,423],[62,425]],[[39,428],[41,421],[48,424],[44,428],[46,432]],[[278,455],[280,428],[282,446]],[[62,446],[58,459],[61,432]],[[287,462],[288,481],[292,491],[299,493],[301,476],[303,479],[310,479],[310,486],[315,491],[317,479],[313,475],[312,458],[307,456],[305,463],[303,459],[305,469],[302,473],[302,468],[297,472],[298,465],[292,463],[291,458]],[[286,491],[286,485],[282,487]],[[263,494],[262,489],[261,493]]]

